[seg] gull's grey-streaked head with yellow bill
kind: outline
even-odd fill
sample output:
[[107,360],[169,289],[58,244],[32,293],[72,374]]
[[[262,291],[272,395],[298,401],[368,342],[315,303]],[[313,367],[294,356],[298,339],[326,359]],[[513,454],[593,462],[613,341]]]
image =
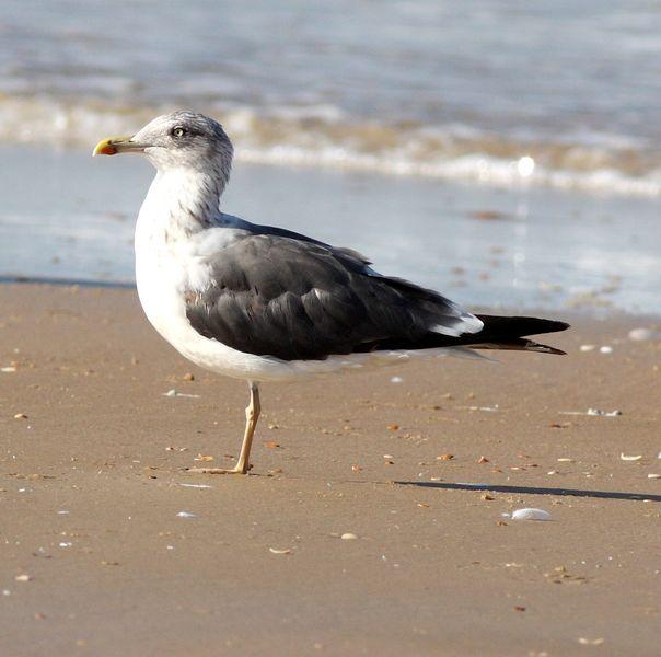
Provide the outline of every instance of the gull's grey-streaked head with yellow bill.
[[93,155],[144,153],[159,170],[218,171],[225,178],[232,166],[232,142],[222,126],[194,112],[158,116],[132,137],[109,137],[94,148]]

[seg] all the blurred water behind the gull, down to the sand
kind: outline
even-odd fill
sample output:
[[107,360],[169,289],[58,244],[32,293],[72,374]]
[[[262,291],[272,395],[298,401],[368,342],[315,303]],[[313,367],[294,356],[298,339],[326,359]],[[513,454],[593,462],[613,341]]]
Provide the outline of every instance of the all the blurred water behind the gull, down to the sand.
[[466,303],[659,312],[660,35],[643,0],[4,0],[0,275],[130,281],[150,171],[89,152],[186,107],[229,211]]

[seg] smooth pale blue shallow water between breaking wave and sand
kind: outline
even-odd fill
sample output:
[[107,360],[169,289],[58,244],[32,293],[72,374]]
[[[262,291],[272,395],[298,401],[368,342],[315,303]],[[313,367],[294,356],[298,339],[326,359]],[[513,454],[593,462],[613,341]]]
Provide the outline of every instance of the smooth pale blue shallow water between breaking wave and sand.
[[[153,176],[139,157],[0,148],[2,277],[135,280],[132,233]],[[658,203],[552,188],[237,164],[222,208],[351,246],[387,275],[508,311],[659,314]]]

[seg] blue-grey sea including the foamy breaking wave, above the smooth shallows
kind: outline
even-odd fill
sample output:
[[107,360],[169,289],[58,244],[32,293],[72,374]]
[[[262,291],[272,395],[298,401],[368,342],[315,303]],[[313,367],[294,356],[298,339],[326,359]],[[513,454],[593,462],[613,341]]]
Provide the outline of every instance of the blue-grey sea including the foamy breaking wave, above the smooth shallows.
[[651,0],[3,0],[0,140],[189,107],[239,160],[661,194]]

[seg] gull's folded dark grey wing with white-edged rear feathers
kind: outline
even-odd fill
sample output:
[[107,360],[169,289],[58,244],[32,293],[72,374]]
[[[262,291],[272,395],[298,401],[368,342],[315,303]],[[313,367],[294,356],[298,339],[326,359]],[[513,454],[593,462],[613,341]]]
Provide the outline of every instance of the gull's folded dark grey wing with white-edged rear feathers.
[[443,339],[482,327],[441,295],[380,276],[356,252],[251,227],[208,258],[209,285],[186,293],[188,321],[205,337],[247,354],[310,360],[447,346]]

